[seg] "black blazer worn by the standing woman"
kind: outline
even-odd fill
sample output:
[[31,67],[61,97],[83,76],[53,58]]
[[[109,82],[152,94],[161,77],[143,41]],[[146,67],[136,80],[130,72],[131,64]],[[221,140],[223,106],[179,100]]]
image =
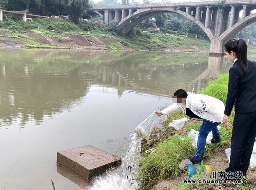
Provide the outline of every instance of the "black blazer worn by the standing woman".
[[238,60],[229,69],[229,89],[224,114],[231,114],[235,103],[235,114],[256,112],[256,62],[247,60],[249,72],[245,76]]

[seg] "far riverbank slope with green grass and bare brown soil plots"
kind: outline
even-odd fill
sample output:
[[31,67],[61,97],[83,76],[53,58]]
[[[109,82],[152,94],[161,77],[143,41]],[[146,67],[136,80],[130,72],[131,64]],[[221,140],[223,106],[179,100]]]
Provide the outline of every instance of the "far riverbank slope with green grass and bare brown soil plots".
[[[33,18],[33,22],[24,22],[14,14],[4,13],[3,21],[0,22],[0,40],[22,41],[27,46],[21,47],[29,48],[60,46],[76,49],[206,52],[210,47],[210,40],[160,32],[143,33],[139,29],[132,29],[127,36],[117,35],[110,27],[101,24],[95,27],[94,23],[91,21],[75,25],[64,18]],[[57,33],[59,30],[61,34]]]

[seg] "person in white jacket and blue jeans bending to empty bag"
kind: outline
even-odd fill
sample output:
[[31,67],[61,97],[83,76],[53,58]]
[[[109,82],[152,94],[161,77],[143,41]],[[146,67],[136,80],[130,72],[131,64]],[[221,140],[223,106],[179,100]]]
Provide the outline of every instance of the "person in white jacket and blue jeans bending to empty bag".
[[[155,111],[157,115],[166,115],[182,109],[186,117],[203,121],[199,128],[199,136],[197,140],[197,151],[192,157],[189,157],[193,164],[201,164],[203,159],[206,138],[209,132],[213,132],[212,143],[220,143],[219,130],[217,126],[222,123],[225,106],[224,103],[217,98],[186,92],[183,89],[178,89],[172,97],[173,105],[162,111]],[[228,122],[223,124],[227,130],[230,130],[232,125]]]

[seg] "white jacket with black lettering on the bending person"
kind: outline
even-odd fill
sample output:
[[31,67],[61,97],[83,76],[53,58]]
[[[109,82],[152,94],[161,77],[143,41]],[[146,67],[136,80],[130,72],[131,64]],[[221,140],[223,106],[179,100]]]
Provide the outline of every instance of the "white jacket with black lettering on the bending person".
[[[187,94],[188,96],[185,105],[170,105],[169,107],[162,110],[162,114],[166,115],[182,109],[183,114],[187,116],[186,108],[189,108],[194,114],[202,119],[214,123],[222,123],[225,110],[225,106],[222,101],[203,94],[193,94],[190,92],[187,92]],[[189,116],[187,117],[191,118]],[[200,118],[192,119],[202,121]]]

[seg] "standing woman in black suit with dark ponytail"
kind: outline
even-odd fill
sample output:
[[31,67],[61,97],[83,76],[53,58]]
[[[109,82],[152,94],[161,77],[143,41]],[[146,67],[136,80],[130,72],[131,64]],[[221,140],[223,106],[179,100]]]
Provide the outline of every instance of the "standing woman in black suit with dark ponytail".
[[235,104],[231,157],[229,167],[226,168],[226,175],[232,180],[238,176],[246,177],[256,137],[256,62],[247,60],[247,45],[242,39],[226,42],[225,54],[234,63],[229,70],[229,88],[223,117],[223,123],[229,121]]

